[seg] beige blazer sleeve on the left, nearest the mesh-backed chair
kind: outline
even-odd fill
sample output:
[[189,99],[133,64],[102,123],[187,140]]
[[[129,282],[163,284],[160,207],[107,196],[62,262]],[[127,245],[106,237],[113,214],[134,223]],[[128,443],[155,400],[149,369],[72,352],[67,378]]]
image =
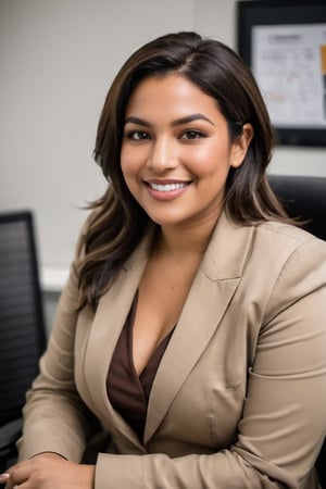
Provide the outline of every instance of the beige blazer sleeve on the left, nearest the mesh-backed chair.
[[47,351],[40,360],[40,373],[27,392],[23,410],[23,437],[17,443],[20,460],[52,451],[79,462],[92,429],[93,417],[83,403],[74,381],[74,339],[78,316],[77,268],[83,235],[84,230],[59,300]]

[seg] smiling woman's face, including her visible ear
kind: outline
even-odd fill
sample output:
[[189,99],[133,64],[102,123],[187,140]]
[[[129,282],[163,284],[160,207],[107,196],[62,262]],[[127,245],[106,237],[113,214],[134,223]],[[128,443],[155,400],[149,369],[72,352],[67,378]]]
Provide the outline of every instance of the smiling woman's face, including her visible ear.
[[215,223],[229,167],[241,164],[251,136],[248,124],[230,142],[215,100],[181,75],[147,78],[126,106],[122,172],[159,225]]

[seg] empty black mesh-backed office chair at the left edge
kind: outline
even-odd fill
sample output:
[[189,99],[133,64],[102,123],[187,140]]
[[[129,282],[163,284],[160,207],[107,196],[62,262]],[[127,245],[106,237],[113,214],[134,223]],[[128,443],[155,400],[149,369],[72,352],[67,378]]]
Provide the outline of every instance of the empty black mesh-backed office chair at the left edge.
[[0,213],[0,473],[16,457],[25,393],[46,347],[33,214]]

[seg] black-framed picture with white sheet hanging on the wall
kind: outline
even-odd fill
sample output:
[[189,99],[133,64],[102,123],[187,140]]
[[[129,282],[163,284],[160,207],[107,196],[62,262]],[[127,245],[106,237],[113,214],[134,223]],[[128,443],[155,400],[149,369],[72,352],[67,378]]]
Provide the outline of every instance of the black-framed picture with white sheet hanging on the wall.
[[326,146],[326,0],[238,1],[237,49],[278,143]]

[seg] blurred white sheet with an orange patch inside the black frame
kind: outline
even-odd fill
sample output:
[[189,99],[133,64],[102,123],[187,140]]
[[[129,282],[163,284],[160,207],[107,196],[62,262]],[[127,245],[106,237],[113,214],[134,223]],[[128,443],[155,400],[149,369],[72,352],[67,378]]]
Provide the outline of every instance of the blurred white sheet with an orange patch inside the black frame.
[[326,23],[254,25],[251,47],[272,123],[326,129]]

